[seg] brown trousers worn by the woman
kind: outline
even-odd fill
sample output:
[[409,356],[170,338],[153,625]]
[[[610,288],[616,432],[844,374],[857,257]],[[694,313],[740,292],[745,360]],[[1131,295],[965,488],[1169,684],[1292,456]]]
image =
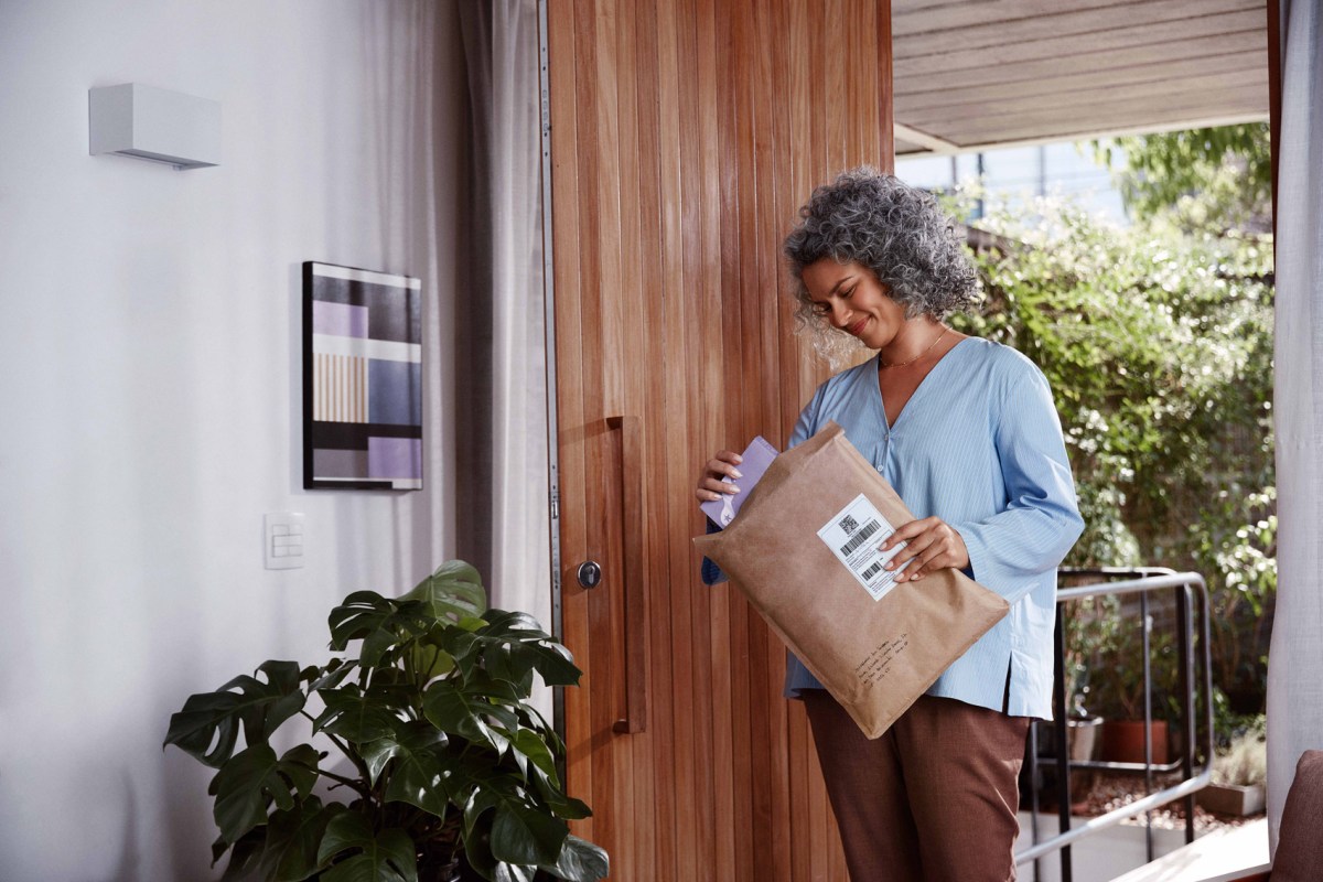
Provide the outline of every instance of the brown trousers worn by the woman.
[[1027,717],[923,696],[869,741],[826,690],[803,696],[852,882],[1016,878]]

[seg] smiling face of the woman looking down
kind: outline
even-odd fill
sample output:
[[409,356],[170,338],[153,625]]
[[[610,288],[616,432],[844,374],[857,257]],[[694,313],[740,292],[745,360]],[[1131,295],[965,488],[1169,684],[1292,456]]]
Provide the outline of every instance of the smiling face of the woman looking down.
[[814,312],[869,349],[881,349],[905,327],[905,308],[886,296],[886,287],[860,263],[822,258],[806,266],[800,278]]

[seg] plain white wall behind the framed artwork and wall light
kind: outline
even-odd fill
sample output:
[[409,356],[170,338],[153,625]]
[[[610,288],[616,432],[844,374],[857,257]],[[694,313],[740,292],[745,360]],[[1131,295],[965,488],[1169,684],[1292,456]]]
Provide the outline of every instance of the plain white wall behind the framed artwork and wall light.
[[[0,0],[0,879],[205,879],[169,714],[325,659],[454,534],[463,58],[430,0]],[[218,168],[87,155],[87,89],[218,99]],[[431,127],[439,136],[431,138]],[[422,276],[427,489],[304,492],[299,266]],[[262,513],[304,512],[303,570]]]

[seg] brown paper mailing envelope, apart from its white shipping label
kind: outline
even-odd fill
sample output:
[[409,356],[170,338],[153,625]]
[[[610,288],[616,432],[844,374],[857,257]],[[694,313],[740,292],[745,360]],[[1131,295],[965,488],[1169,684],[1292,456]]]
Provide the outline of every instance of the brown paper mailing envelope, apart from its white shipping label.
[[947,569],[881,600],[818,530],[864,493],[892,526],[914,520],[836,423],[779,455],[725,530],[693,540],[868,738],[886,731],[1002,620],[1005,599]]

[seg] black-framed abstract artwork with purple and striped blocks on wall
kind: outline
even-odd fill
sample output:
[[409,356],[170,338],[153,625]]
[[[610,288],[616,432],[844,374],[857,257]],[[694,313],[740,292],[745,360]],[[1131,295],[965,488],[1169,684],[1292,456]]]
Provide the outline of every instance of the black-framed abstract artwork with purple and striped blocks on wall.
[[422,283],[303,264],[303,487],[422,489]]

